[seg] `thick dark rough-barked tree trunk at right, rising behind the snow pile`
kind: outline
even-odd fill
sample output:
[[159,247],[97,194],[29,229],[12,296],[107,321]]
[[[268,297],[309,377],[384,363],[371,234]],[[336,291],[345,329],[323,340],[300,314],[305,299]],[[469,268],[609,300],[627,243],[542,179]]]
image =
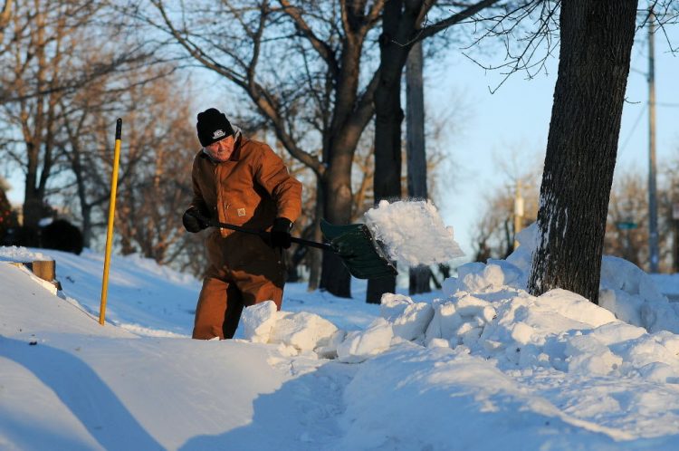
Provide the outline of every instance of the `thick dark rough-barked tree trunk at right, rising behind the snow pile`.
[[534,295],[559,287],[598,303],[635,19],[636,0],[561,4],[559,76],[529,282]]

